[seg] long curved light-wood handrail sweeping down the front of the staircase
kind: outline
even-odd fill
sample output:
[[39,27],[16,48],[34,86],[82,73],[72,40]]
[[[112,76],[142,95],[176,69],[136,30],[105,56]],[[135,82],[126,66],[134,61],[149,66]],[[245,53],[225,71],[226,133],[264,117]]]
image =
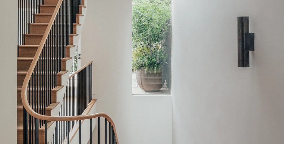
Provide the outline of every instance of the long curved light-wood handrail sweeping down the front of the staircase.
[[[49,32],[52,28],[52,25],[55,21],[55,17],[59,11],[59,8],[61,7],[61,4],[62,4],[63,0],[59,0],[58,1],[58,4],[56,5],[56,8],[52,14],[52,17],[48,23],[48,26],[47,26],[47,29],[43,35],[43,39],[41,40],[40,44],[39,44],[39,48],[37,49],[36,51],[36,54],[33,58],[33,61],[30,65],[30,68],[27,72],[27,75],[24,79],[24,82],[23,82],[23,86],[22,86],[22,91],[21,91],[21,99],[22,99],[22,103],[23,103],[23,106],[25,108],[25,110],[27,111],[27,113],[29,113],[31,116],[33,116],[34,118],[36,119],[40,119],[40,120],[45,120],[45,121],[77,121],[77,120],[85,120],[85,119],[93,119],[93,118],[97,118],[97,117],[104,117],[105,119],[107,119],[108,122],[111,123],[111,125],[113,126],[113,130],[115,132],[115,137],[116,137],[116,141],[117,141],[117,144],[118,143],[118,136],[117,136],[117,133],[116,133],[116,128],[115,128],[115,124],[113,122],[113,120],[105,113],[96,113],[96,114],[90,114],[90,115],[81,115],[81,116],[45,116],[45,115],[41,115],[39,113],[36,113],[31,107],[30,107],[30,104],[27,100],[27,87],[29,85],[29,81],[30,81],[30,78],[33,74],[33,71],[34,71],[34,68],[36,67],[36,63],[39,59],[39,56],[43,50],[43,47],[46,43],[46,40],[48,38],[48,35],[49,35]],[[75,73],[76,74],[76,73]]]

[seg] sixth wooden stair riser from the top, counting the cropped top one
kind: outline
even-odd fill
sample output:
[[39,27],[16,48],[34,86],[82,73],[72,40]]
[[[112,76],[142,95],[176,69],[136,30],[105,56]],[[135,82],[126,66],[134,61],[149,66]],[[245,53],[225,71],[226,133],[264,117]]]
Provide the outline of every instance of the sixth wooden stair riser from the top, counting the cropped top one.
[[[38,47],[19,47],[19,57],[34,57]],[[43,51],[45,49],[43,48]],[[65,48],[65,57],[70,57],[70,48]]]

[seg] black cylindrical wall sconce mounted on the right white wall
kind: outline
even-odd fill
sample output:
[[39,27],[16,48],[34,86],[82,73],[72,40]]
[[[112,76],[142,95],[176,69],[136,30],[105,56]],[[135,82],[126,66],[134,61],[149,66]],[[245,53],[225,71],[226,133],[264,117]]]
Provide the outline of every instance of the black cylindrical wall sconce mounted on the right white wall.
[[238,67],[250,67],[250,51],[254,51],[254,33],[249,33],[249,17],[238,17]]

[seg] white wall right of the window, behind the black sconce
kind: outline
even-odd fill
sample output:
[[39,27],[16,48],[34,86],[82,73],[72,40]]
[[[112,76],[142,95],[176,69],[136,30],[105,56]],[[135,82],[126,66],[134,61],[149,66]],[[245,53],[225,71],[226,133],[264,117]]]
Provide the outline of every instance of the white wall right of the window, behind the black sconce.
[[[284,1],[173,0],[173,144],[284,143]],[[250,16],[251,67],[237,67]]]

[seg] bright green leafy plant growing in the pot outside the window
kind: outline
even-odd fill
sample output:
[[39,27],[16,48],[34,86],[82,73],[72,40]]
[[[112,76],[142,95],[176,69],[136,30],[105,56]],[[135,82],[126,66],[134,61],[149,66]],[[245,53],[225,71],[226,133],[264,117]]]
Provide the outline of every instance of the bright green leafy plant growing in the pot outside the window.
[[132,70],[157,71],[167,64],[164,40],[171,32],[171,0],[133,0]]

